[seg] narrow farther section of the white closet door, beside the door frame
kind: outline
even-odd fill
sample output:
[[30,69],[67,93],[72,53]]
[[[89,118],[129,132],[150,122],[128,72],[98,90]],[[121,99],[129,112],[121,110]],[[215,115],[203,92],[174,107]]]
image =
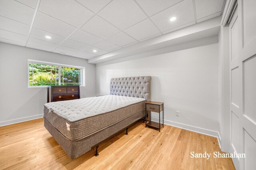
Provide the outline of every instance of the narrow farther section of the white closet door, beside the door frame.
[[[230,153],[241,153],[240,149],[240,118],[242,116],[240,98],[242,94],[241,86],[241,66],[238,62],[238,15],[234,13],[229,24],[229,54],[230,54]],[[239,168],[239,158],[232,158],[236,169]]]

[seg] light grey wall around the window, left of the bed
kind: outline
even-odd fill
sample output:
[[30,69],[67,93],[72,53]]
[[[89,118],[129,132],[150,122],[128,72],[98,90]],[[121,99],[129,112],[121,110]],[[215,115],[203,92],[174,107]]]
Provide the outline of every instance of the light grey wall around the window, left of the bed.
[[0,126],[42,117],[47,88],[28,88],[28,59],[85,67],[81,98],[95,96],[95,64],[76,57],[0,43]]

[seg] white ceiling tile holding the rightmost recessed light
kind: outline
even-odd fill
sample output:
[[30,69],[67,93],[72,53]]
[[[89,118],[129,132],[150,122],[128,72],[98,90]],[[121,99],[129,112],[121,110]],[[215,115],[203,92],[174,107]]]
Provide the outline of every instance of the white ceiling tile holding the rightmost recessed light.
[[[175,21],[170,21],[170,18],[172,17],[176,17],[177,19]],[[190,23],[194,21],[192,0],[184,0],[150,18],[161,31],[167,31],[186,23]]]

